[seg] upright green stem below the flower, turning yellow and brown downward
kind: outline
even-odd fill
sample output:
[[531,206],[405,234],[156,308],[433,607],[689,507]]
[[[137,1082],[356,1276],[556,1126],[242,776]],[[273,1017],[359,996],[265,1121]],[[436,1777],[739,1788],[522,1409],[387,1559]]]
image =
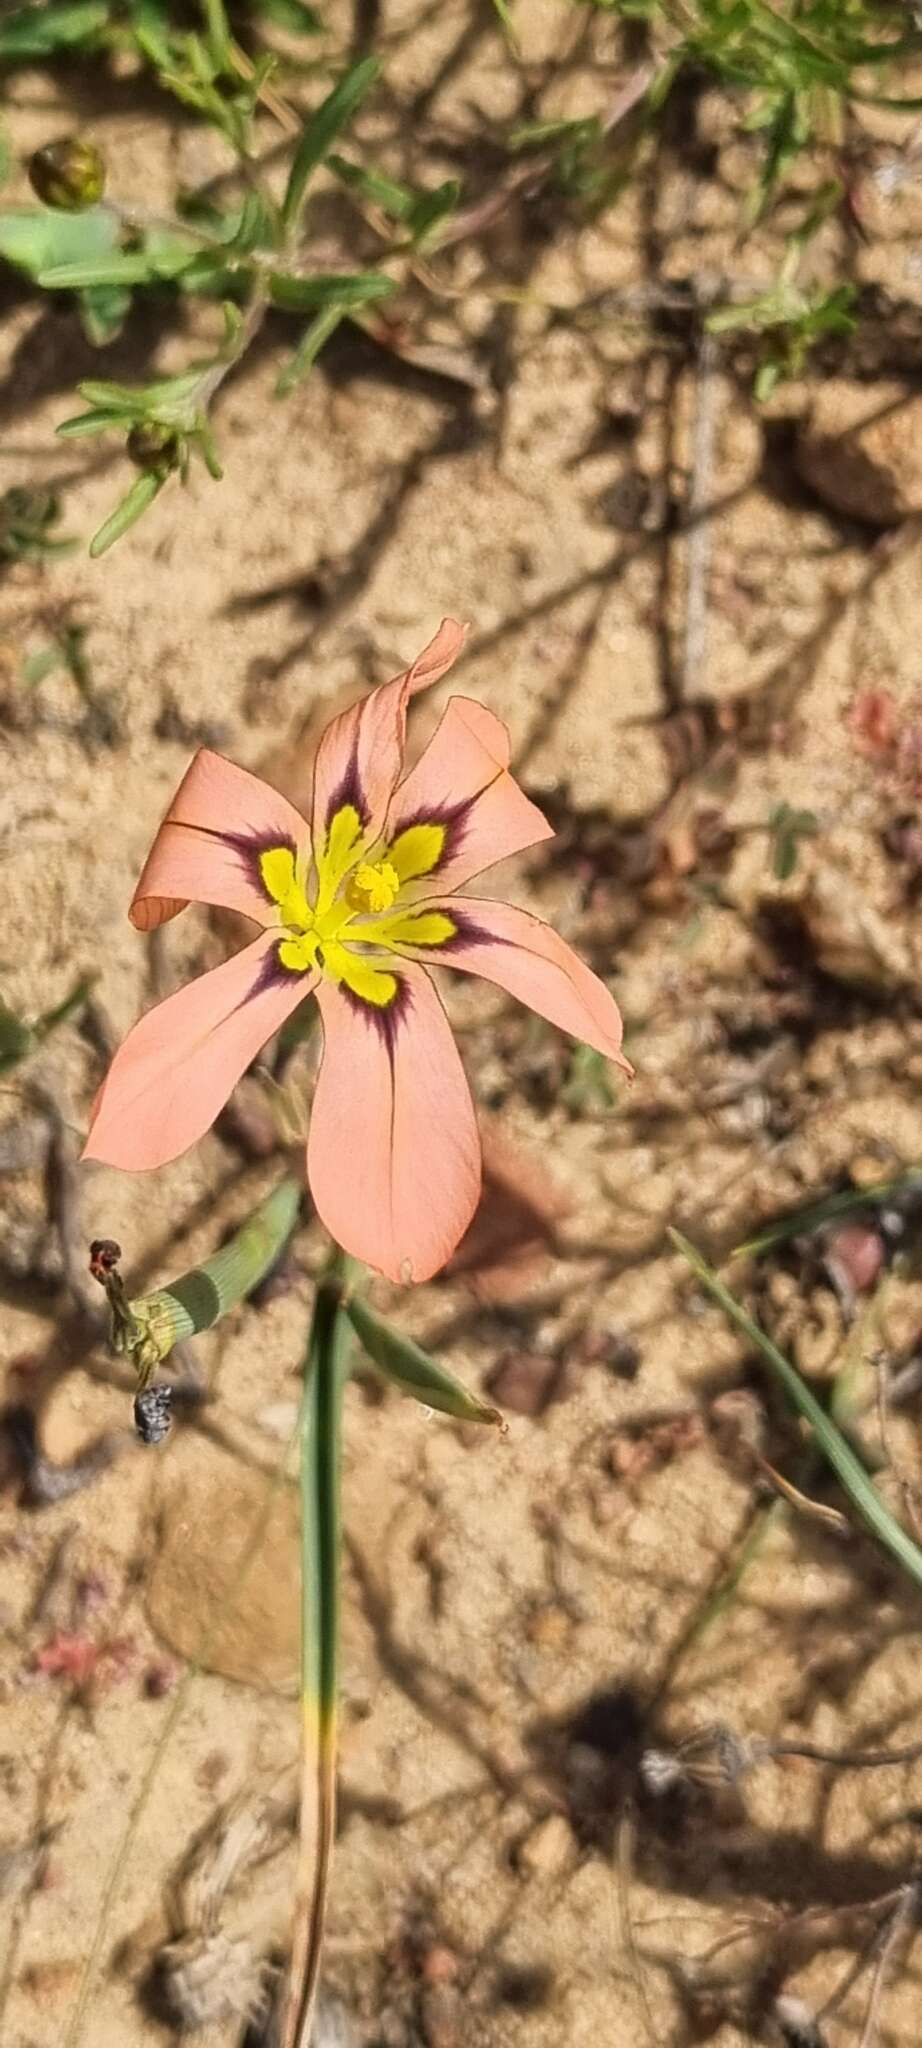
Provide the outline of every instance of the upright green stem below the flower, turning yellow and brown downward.
[[301,1405],[301,1821],[295,1929],[281,2048],[307,2048],[336,1827],[342,1391],[352,1331],[346,1262],[318,1286]]

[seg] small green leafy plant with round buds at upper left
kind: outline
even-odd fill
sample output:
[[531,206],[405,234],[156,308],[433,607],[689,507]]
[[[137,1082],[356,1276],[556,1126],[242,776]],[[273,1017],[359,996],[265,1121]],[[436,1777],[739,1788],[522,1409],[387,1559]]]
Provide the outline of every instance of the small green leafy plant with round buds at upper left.
[[[295,0],[264,0],[250,12],[305,35],[320,27],[313,10]],[[238,164],[236,178],[223,180],[236,186],[225,205],[199,193],[174,215],[158,217],[119,201],[92,141],[57,137],[31,160],[41,205],[0,213],[0,258],[43,291],[74,293],[94,346],[115,340],[135,293],[209,299],[221,315],[213,350],[174,377],[137,385],[86,379],[80,385],[86,410],[64,420],[59,432],[66,438],[123,434],[139,471],[92,537],[92,555],[102,555],[127,532],[170,477],[184,481],[193,457],[211,477],[221,477],[213,399],[270,307],[305,322],[279,377],[279,395],[285,395],[309,373],[342,319],[363,324],[369,307],[395,291],[397,276],[387,264],[430,248],[459,199],[455,180],[416,193],[334,154],[334,141],[377,80],[375,57],[342,70],[313,113],[297,123],[270,86],[277,59],[270,51],[254,59],[244,53],[223,0],[203,0],[199,33],[178,31],[172,14],[160,0],[135,0],[127,8],[20,8],[0,29],[0,63],[74,49],[102,55],[127,49],[164,90],[223,135]],[[295,129],[281,199],[273,197],[256,150],[262,104]],[[322,270],[309,262],[305,209],[322,164],[330,164],[361,209],[375,209],[387,246],[371,270]]]

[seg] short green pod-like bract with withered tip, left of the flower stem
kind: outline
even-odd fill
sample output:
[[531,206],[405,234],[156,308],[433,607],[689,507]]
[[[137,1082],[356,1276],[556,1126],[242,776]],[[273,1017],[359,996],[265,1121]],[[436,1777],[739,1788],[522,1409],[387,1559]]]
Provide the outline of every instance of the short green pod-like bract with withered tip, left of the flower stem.
[[152,1366],[162,1364],[174,1343],[213,1329],[266,1278],[295,1229],[299,1202],[301,1182],[295,1178],[279,1182],[209,1260],[170,1280],[168,1286],[129,1300],[127,1327],[113,1331],[115,1348],[131,1352],[139,1366]]

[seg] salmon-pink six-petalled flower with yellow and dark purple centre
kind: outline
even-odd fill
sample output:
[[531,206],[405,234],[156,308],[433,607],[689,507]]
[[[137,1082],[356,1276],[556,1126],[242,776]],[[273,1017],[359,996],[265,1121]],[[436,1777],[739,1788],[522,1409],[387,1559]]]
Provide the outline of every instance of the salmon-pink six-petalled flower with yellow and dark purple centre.
[[150,932],[188,901],[219,903],[260,936],[135,1024],[84,1149],[131,1171],[176,1159],[316,993],[313,1202],[336,1243],[391,1280],[445,1266],[479,1196],[473,1104],[428,965],[494,981],[631,1071],[617,1006],[576,952],[512,903],[459,895],[551,831],[508,772],[504,725],[453,696],[404,776],[408,698],[445,676],[463,641],[445,618],[412,668],[328,725],[311,825],[244,768],[209,748],[195,756],[131,922]]

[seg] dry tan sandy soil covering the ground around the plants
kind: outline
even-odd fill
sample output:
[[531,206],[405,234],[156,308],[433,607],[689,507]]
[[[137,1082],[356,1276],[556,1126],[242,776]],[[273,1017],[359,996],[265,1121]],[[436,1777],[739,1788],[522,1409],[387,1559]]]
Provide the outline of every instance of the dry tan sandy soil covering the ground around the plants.
[[[469,127],[471,106],[477,121],[506,121],[520,78],[488,8],[475,27],[432,10],[414,35],[410,0],[387,14],[387,94],[365,133],[375,139],[379,121],[395,168],[445,174],[438,137]],[[551,57],[559,10],[520,14],[529,59]],[[547,104],[582,111],[592,88],[586,53],[561,68]],[[127,197],[168,199],[178,174],[211,168],[178,111],[127,86],[94,104],[92,90],[92,78],[78,82],[80,111]],[[61,94],[45,76],[16,76],[16,154],[59,129]],[[865,1538],[772,1507],[734,1415],[772,1466],[801,1473],[826,1505],[836,1495],[664,1235],[676,1223],[723,1255],[813,1190],[922,1157],[916,786],[906,760],[893,780],[889,758],[863,754],[846,723],[867,690],[918,719],[918,223],[887,213],[867,248],[828,229],[818,264],[852,264],[869,289],[891,291],[899,322],[871,311],[852,352],[785,385],[758,418],[750,360],[695,356],[682,317],[598,299],[736,274],[742,260],[770,276],[770,231],[744,256],[734,248],[754,145],[727,131],[711,96],[697,119],[697,133],[666,127],[600,221],[512,207],[475,250],[445,258],[445,283],[465,297],[420,291],[410,311],[422,340],[477,367],[477,389],[352,340],[283,406],[273,383],[285,330],[270,326],[219,403],[221,485],[197,477],[164,492],[102,565],[76,553],[4,571],[4,997],[31,1016],[78,975],[98,977],[96,1044],[70,1024],[6,1077],[0,1102],[4,1165],[16,1167],[2,1186],[8,2048],[64,2040],[152,1757],[107,1901],[86,2042],[141,2048],[201,2023],[207,2048],[232,2048],[266,1960],[285,1948],[291,1489],[236,1616],[184,1692],[180,1681],[285,1458],[322,1257],[307,1227],[287,1284],[201,1339],[207,1405],[184,1411],[162,1452],[141,1448],[125,1382],[61,1276],[43,1104],[51,1092],[66,1159],[102,1071],[104,1020],[121,1034],[156,987],[221,952],[223,936],[195,911],[158,952],[125,918],[197,737],[303,786],[328,707],[393,672],[443,612],[473,621],[459,684],[508,721],[522,780],[559,825],[514,893],[613,981],[637,1081],[609,1104],[555,1034],[488,989],[449,991],[500,1194],[459,1272],[400,1305],[385,1286],[375,1298],[490,1384],[510,1427],[504,1440],[457,1430],[377,1401],[365,1382],[348,1395],[328,1948],[330,1995],[348,2019],[328,2009],[318,2038],[348,2040],[352,2028],[369,2048],[781,2042],[772,2001],[818,2011],[881,1923],[869,1901],[912,1876],[920,1765],[787,1759],[734,1784],[701,1751],[660,1792],[639,1772],[643,1751],[715,1724],[832,1749],[922,1737],[918,1595]],[[869,137],[891,147],[883,119],[869,117]],[[334,246],[338,231],[330,199],[320,233]],[[586,301],[592,315],[576,311]],[[139,315],[111,373],[184,360],[197,322],[201,338],[201,313],[188,332],[158,336]],[[70,313],[12,287],[0,356],[4,485],[55,481],[68,530],[86,535],[125,469],[86,444],[61,455],[53,426],[98,362]],[[824,397],[832,373],[840,412]],[[856,418],[887,406],[906,408],[904,432],[848,442]],[[824,436],[838,453],[818,465]],[[871,471],[883,494],[877,524],[854,516],[856,463],[858,492]],[[701,502],[703,528],[688,520]],[[690,561],[707,604],[688,664]],[[18,664],[61,618],[88,627],[109,743],[68,678],[23,705]],[[418,707],[414,743],[445,696],[441,686]],[[787,883],[772,877],[766,834],[781,801],[820,819]],[[904,838],[883,844],[897,819]],[[277,1157],[244,1157],[240,1128],[154,1180],[86,1169],[78,1243],[117,1235],[131,1276],[166,1278],[277,1171]],[[537,1249],[490,1264],[508,1182],[512,1227]],[[912,1260],[856,1317],[818,1257],[760,1280],[740,1268],[740,1284],[807,1372],[828,1378],[846,1341],[914,1354]],[[734,1393],[742,1407],[727,1407]],[[23,1411],[55,1464],[104,1442],[92,1487],[29,1499]],[[893,1415],[891,1442],[912,1477],[912,1407]],[[895,1481],[885,1487],[899,1505]],[[715,1610],[750,1538],[736,1597]],[[96,1647],[80,1683],[61,1651],[72,1638]],[[180,1874],[201,1835],[195,1886]],[[236,1876],[221,1896],[213,1864],[227,1841]],[[23,1845],[25,1858],[4,1862]],[[184,1946],[164,1958],[170,1937]],[[871,1970],[828,2021],[830,2048],[858,2040]],[[899,1929],[879,2038],[918,2040],[916,1960]]]

